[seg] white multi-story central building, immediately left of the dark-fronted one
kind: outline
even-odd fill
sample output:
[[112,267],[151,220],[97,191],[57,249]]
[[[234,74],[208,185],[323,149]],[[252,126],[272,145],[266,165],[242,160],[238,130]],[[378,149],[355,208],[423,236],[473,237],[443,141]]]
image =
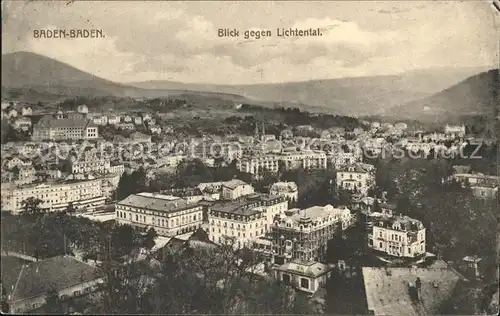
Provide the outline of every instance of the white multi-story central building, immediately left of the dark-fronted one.
[[210,239],[215,243],[233,242],[237,248],[251,247],[255,238],[269,232],[273,218],[288,209],[284,197],[254,194],[209,207]]

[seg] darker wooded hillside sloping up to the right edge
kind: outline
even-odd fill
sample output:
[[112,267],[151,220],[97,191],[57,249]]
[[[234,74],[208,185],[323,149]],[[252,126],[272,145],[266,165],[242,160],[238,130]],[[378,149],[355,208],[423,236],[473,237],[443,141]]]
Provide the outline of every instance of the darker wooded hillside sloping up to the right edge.
[[499,107],[498,69],[469,77],[432,96],[394,108],[394,117],[412,117],[423,121],[452,120],[467,115],[495,117]]

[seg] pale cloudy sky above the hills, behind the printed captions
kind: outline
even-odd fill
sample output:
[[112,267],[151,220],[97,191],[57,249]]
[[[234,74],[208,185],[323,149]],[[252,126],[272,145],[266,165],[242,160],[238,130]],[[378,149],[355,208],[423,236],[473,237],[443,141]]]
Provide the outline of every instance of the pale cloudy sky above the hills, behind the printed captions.
[[[2,1],[2,53],[42,54],[117,82],[252,84],[499,64],[486,0],[67,2]],[[290,27],[323,36],[217,36],[220,28]],[[37,39],[36,29],[101,29],[105,37]]]

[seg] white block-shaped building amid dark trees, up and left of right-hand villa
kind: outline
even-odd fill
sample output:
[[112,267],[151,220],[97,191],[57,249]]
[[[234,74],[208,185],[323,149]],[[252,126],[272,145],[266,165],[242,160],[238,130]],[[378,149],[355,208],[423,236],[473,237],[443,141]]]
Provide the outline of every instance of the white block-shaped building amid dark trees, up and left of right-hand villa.
[[338,188],[367,195],[374,185],[375,168],[372,165],[357,163],[341,167],[337,171]]

